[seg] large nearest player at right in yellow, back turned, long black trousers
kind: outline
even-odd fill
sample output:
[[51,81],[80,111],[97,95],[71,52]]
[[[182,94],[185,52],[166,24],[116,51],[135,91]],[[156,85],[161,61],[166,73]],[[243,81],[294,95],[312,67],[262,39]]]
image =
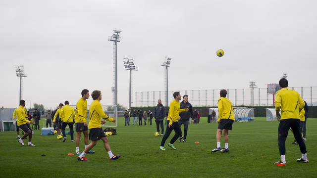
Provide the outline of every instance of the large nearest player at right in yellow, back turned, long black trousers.
[[[286,165],[285,160],[285,140],[287,138],[288,130],[292,128],[294,137],[299,144],[302,152],[302,157],[297,162],[308,163],[306,145],[300,134],[300,117],[299,112],[305,106],[305,102],[295,90],[288,89],[288,81],[282,78],[278,82],[281,88],[276,92],[275,97],[275,111],[277,120],[280,121],[278,125],[278,149],[280,154],[280,161],[274,163],[277,166]],[[281,115],[279,111],[281,110]]]

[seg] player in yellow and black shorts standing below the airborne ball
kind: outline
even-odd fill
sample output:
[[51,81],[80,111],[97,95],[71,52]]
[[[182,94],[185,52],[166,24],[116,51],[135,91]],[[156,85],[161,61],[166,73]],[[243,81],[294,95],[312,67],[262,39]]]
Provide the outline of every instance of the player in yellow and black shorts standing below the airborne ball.
[[[217,147],[215,147],[212,152],[228,152],[228,130],[232,130],[232,125],[234,122],[232,104],[229,99],[226,98],[227,90],[220,90],[220,98],[218,99],[218,129],[216,133]],[[223,132],[222,132],[223,131]],[[221,149],[221,132],[223,133],[224,138],[224,148]]]

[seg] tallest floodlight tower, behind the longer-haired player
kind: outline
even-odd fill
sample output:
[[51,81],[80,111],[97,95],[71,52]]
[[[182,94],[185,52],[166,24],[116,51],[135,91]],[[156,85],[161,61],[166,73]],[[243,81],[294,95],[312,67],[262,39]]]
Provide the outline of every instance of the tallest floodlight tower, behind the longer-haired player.
[[113,81],[111,91],[113,92],[113,105],[118,104],[118,80],[117,80],[117,42],[120,42],[120,30],[113,30],[112,36],[108,37],[108,41],[113,42]]

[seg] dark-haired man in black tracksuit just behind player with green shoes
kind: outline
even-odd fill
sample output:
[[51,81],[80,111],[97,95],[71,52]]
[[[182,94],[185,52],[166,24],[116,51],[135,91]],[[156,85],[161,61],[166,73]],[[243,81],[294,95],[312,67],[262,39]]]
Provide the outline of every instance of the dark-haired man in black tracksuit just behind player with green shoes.
[[188,95],[183,96],[183,101],[180,103],[180,108],[185,109],[188,108],[189,112],[181,112],[179,113],[180,120],[178,120],[179,126],[184,125],[184,137],[181,136],[178,139],[178,142],[181,142],[182,138],[184,143],[187,143],[186,141],[186,136],[187,136],[187,131],[188,131],[188,124],[189,124],[189,118],[193,118],[193,108],[192,105],[188,102]]

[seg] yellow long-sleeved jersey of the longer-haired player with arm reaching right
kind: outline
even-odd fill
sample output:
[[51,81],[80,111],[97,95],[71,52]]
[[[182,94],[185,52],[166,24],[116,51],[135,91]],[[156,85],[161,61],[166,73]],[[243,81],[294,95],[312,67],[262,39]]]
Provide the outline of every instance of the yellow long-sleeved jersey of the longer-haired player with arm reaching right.
[[89,124],[88,129],[101,128],[101,118],[112,122],[113,119],[107,116],[98,99],[94,100],[89,106]]

